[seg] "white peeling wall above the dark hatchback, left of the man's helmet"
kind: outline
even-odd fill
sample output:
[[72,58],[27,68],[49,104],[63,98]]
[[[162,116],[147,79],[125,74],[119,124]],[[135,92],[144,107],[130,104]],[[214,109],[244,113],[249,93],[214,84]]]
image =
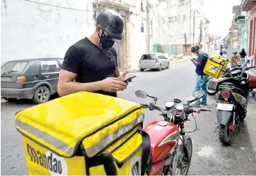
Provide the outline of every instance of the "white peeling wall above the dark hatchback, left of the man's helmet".
[[34,57],[64,57],[66,49],[95,30],[93,0],[24,0],[1,3],[1,63]]

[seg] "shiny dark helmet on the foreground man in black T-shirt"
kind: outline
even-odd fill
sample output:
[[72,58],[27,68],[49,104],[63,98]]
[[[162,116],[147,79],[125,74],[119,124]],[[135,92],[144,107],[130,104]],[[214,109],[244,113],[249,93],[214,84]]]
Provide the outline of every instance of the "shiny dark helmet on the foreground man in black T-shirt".
[[117,12],[111,9],[104,9],[98,14],[96,21],[112,38],[123,39],[123,18]]

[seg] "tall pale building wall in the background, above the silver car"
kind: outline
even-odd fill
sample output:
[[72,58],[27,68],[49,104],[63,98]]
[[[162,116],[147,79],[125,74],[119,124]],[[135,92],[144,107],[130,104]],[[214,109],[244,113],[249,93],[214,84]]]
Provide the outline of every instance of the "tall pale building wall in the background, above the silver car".
[[[163,17],[153,25],[152,40],[160,44],[185,44],[184,34],[187,34],[187,44],[193,43],[193,11],[195,13],[195,43],[199,41],[200,20],[203,15],[203,0],[158,0],[155,9]],[[155,15],[151,14],[152,19]],[[160,25],[158,25],[160,23]]]

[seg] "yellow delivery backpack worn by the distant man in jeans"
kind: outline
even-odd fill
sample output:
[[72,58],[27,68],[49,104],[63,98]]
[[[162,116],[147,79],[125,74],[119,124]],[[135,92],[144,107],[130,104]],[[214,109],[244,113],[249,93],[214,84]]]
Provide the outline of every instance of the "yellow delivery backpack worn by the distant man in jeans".
[[203,68],[203,73],[219,79],[226,70],[228,66],[228,59],[224,57],[209,57],[205,67]]

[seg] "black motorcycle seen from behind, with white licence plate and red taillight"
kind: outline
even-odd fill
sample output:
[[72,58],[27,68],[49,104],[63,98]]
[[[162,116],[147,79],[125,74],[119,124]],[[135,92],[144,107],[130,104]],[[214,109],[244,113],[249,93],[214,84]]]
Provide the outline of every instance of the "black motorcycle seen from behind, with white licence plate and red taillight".
[[[253,60],[249,57],[248,60]],[[239,129],[239,123],[247,116],[246,103],[249,91],[256,89],[256,76],[250,76],[245,71],[256,66],[243,69],[233,68],[223,76],[224,81],[218,84],[217,122],[220,129],[220,142],[230,145],[230,136],[234,129]]]

